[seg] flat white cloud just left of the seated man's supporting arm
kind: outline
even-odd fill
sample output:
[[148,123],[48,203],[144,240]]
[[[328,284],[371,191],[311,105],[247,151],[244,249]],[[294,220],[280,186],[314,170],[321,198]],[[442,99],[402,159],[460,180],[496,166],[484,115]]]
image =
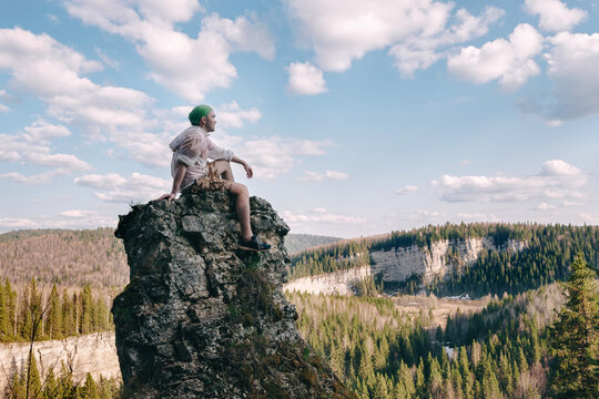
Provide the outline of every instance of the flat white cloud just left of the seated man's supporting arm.
[[94,195],[104,202],[131,203],[158,198],[170,191],[171,182],[134,172],[130,177],[116,173],[90,174],[74,180],[77,185],[100,190]]

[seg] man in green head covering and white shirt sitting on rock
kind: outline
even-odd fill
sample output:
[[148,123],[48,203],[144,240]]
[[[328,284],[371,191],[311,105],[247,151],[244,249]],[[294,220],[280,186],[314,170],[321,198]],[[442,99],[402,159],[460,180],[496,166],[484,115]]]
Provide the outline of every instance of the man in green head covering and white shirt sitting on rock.
[[[176,193],[184,188],[203,191],[229,191],[237,195],[235,204],[242,229],[240,248],[250,250],[266,250],[271,245],[263,243],[252,233],[250,225],[250,194],[247,187],[235,183],[231,162],[238,163],[245,168],[247,178],[254,172],[247,162],[238,158],[231,150],[224,150],[214,144],[209,135],[214,132],[216,115],[209,105],[197,105],[190,112],[191,126],[180,133],[169,144],[173,151],[171,175],[173,190],[159,200],[172,201]],[[212,158],[213,162],[207,160]],[[193,186],[195,185],[195,187]]]

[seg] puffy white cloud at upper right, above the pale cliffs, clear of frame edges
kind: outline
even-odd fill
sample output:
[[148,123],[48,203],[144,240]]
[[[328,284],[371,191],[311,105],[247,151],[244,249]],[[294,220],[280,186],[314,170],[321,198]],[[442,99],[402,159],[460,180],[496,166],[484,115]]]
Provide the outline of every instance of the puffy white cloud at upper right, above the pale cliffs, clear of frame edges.
[[520,23],[509,40],[496,39],[480,49],[463,48],[458,54],[449,57],[447,69],[474,83],[499,80],[505,89],[515,90],[540,72],[534,58],[540,54],[542,42],[542,35],[535,28]]

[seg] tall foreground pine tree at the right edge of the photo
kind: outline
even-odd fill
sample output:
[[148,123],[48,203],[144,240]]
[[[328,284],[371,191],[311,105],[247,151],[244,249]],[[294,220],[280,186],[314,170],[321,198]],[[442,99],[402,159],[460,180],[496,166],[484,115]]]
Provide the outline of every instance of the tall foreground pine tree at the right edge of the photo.
[[565,284],[568,300],[550,327],[555,357],[551,387],[557,398],[599,397],[599,296],[595,273],[582,255]]

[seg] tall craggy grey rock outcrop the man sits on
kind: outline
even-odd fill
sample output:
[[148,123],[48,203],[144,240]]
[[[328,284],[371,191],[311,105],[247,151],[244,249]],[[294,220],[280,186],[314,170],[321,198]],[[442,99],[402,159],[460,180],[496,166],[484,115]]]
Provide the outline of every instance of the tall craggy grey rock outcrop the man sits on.
[[232,196],[187,194],[121,216],[131,283],[113,305],[125,389],[135,398],[354,398],[294,327],[282,293],[286,224],[251,198],[273,248],[237,247]]

